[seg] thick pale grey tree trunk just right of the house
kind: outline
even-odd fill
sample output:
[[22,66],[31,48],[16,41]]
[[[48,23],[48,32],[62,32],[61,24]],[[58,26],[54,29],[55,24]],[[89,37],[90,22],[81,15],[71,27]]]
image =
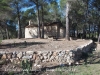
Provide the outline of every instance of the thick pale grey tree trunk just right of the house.
[[69,39],[69,2],[66,3],[66,40]]

